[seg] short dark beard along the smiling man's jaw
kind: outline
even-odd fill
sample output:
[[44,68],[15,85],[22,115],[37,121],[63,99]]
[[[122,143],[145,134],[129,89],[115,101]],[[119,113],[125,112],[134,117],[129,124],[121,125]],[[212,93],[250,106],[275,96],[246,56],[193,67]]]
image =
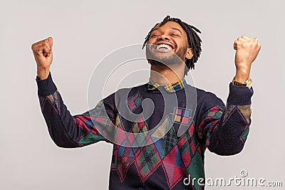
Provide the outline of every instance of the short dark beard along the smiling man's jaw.
[[157,55],[164,54],[155,51],[155,45],[147,44],[146,46],[146,58],[150,65],[175,65],[175,64],[185,64],[183,59],[185,58],[187,52],[186,47],[179,48],[177,53],[172,51],[165,53],[166,55]]

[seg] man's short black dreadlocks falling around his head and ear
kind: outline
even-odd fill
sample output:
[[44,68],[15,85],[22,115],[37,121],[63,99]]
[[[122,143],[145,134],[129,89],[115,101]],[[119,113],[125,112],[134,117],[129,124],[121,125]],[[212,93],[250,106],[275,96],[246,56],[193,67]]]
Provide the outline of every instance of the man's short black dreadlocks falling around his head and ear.
[[[189,48],[192,48],[192,51],[194,53],[194,56],[191,59],[187,59],[185,65],[187,67],[185,67],[185,74],[190,70],[190,69],[194,69],[195,65],[194,63],[197,62],[200,54],[201,54],[201,38],[199,38],[198,33],[201,33],[201,31],[199,31],[199,29],[195,28],[195,26],[191,26],[183,21],[181,21],[180,19],[177,18],[170,18],[170,16],[166,16],[165,19],[163,19],[163,21],[160,23],[159,26],[163,26],[165,25],[165,23],[169,22],[169,21],[173,21],[176,23],[179,23],[180,26],[183,28],[183,30],[186,32],[187,34],[187,40],[188,40],[188,45]],[[157,23],[159,24],[159,23]],[[157,24],[155,24],[155,26],[157,26]],[[147,42],[150,39],[150,33],[152,33],[153,29],[155,28],[155,26],[152,27],[152,29],[150,30],[150,32],[147,34],[147,36],[145,37],[145,42],[143,43],[142,48],[145,47],[145,45],[147,44]]]

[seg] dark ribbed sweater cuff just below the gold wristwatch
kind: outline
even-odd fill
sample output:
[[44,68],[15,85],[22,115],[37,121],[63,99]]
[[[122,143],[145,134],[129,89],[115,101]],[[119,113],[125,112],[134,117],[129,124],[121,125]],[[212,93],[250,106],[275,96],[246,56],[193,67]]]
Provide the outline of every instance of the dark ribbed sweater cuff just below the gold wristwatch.
[[237,86],[229,83],[229,97],[227,98],[228,105],[251,105],[252,95],[254,94],[254,89]]

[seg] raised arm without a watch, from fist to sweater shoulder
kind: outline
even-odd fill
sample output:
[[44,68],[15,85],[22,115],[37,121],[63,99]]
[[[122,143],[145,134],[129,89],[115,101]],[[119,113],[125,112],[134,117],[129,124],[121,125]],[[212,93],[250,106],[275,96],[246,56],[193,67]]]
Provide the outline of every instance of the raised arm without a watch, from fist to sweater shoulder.
[[[58,147],[82,147],[105,140],[97,127],[98,125],[110,126],[113,124],[112,121],[108,119],[104,123],[100,122],[101,120],[94,122],[96,119],[94,112],[105,111],[103,110],[103,101],[99,102],[93,110],[90,110],[93,115],[90,115],[90,112],[85,112],[82,115],[72,116],[64,105],[61,94],[51,78],[52,46],[53,39],[50,37],[33,43],[32,50],[37,64],[38,98],[53,142]],[[108,109],[109,118],[114,117],[110,106],[104,107],[104,109]]]

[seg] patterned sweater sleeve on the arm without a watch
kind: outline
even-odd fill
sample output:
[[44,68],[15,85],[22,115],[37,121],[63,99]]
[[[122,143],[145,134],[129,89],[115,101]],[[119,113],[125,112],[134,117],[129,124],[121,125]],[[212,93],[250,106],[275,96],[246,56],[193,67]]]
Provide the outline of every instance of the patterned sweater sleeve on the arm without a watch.
[[[51,73],[46,80],[36,78],[36,83],[38,85],[41,112],[46,120],[51,139],[58,147],[83,147],[102,140],[107,141],[100,130],[102,131],[104,125],[110,126],[113,124],[110,119],[114,117],[113,110],[110,110],[109,107],[105,108],[108,110],[110,117],[105,119],[104,122],[97,122],[98,126],[95,125],[95,120],[98,119],[95,115],[100,115],[100,111],[105,110],[103,109],[103,100],[93,110],[89,110],[82,115],[72,116],[63,103],[61,93],[58,92],[56,85],[53,83]],[[100,130],[98,127],[100,127]]]

